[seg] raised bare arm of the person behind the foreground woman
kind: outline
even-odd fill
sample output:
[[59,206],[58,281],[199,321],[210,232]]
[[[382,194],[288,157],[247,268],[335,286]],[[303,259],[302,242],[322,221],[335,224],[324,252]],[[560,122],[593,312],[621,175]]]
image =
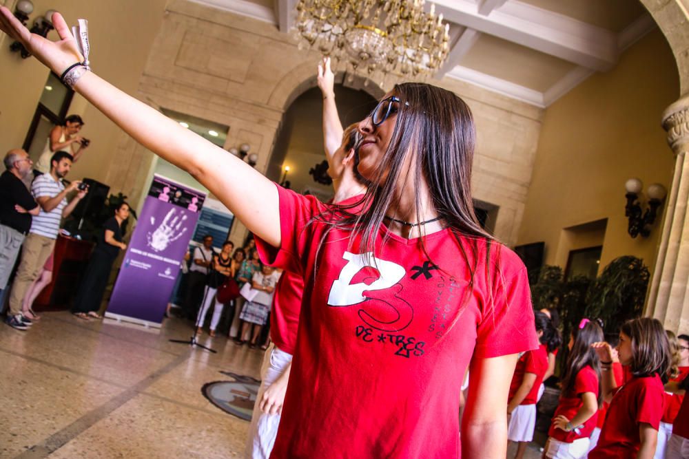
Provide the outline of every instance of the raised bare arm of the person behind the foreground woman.
[[328,165],[339,177],[342,173],[342,164],[335,164],[333,160],[335,152],[342,144],[342,123],[338,115],[338,106],[335,103],[335,75],[330,69],[330,58],[324,58],[318,65],[318,87],[323,95],[323,148]]

